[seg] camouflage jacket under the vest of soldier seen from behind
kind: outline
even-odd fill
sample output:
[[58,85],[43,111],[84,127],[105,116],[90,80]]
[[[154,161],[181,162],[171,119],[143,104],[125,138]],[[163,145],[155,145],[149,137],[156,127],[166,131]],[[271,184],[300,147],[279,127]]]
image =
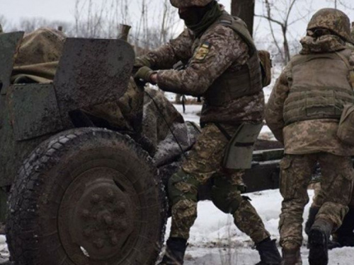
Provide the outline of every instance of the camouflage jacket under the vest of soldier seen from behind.
[[[324,39],[327,39],[324,41]],[[302,40],[307,52],[334,52],[341,50],[345,44],[340,45],[336,40],[324,37],[326,50],[321,51],[318,43],[305,37]],[[330,43],[329,43],[330,42]],[[313,45],[312,45],[313,44]],[[354,56],[353,56],[354,63]],[[302,122],[293,122],[285,126],[283,119],[284,102],[290,91],[289,78],[291,76],[291,63],[287,64],[275,83],[267,106],[265,107],[265,120],[278,141],[282,142],[287,154],[306,154],[328,152],[335,155],[354,155],[354,147],[346,146],[336,136],[338,120],[336,119],[309,119]]]

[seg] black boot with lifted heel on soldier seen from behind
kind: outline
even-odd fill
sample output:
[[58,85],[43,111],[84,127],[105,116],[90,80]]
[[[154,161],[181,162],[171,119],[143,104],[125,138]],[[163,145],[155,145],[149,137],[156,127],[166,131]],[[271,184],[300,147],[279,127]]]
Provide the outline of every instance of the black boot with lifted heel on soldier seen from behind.
[[333,225],[318,219],[309,231],[309,264],[326,265],[329,263],[329,235]]

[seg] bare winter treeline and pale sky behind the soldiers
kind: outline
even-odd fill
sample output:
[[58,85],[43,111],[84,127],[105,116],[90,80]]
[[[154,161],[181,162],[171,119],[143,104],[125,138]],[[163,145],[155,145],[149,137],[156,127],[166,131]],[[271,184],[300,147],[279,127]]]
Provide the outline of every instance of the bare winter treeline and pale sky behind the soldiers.
[[[4,31],[40,27],[59,28],[69,37],[114,38],[120,35],[121,25],[131,25],[128,41],[139,55],[176,37],[183,23],[177,9],[169,0],[75,0],[72,22],[45,18],[21,19],[16,25],[0,15]],[[353,13],[352,0],[326,0],[322,7],[339,8]],[[260,49],[267,49],[275,64],[287,64],[292,54],[299,52],[299,39],[304,32],[297,28],[307,23],[319,6],[317,0],[230,0],[232,12],[250,13],[245,20],[253,20],[253,37]],[[247,11],[247,12],[245,12]],[[234,13],[235,15],[235,13]],[[354,19],[354,18],[352,18]],[[296,29],[296,30],[295,30]]]

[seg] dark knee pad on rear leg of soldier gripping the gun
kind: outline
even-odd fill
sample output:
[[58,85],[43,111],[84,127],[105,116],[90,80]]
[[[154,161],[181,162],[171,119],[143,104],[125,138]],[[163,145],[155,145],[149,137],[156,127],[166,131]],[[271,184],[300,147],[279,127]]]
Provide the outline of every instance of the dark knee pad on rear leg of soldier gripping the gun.
[[212,202],[220,211],[233,214],[243,201],[241,192],[245,190],[243,185],[231,186],[227,182],[216,181],[212,187]]

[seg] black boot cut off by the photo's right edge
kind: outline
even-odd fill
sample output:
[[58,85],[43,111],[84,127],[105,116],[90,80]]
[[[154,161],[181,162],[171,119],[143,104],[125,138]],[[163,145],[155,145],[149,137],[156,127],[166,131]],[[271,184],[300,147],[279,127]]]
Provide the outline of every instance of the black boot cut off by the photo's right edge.
[[349,211],[343,219],[343,223],[336,230],[336,239],[341,247],[354,247],[354,208],[349,208]]

